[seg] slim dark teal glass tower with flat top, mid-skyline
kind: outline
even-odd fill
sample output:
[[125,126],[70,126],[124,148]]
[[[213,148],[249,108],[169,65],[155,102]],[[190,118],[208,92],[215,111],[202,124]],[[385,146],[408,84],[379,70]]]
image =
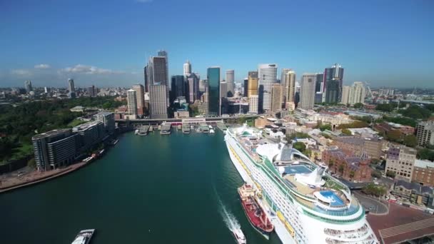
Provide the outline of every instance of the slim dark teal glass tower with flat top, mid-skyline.
[[220,116],[220,67],[210,67],[207,70],[208,79],[208,113]]

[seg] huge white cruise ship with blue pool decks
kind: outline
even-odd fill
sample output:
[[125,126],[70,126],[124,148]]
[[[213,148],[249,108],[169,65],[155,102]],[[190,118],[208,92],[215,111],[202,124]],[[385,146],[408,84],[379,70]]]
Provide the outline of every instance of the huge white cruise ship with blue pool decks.
[[350,189],[285,140],[244,126],[225,135],[231,161],[253,185],[282,243],[378,243]]

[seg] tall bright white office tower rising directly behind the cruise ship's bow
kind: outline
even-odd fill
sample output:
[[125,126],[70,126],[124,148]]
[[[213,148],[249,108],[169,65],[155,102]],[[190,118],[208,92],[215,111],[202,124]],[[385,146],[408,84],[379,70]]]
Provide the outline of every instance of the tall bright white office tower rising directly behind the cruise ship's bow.
[[276,83],[277,64],[266,63],[258,66],[259,111],[271,109],[271,85]]

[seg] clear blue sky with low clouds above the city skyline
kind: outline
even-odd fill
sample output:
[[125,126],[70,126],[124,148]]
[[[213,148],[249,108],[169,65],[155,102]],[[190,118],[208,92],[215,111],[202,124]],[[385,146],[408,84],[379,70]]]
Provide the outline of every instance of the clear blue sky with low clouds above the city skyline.
[[[0,87],[130,86],[158,49],[170,75],[186,59],[298,74],[345,68],[344,83],[434,88],[434,1],[0,0]],[[222,72],[222,75],[223,75]]]

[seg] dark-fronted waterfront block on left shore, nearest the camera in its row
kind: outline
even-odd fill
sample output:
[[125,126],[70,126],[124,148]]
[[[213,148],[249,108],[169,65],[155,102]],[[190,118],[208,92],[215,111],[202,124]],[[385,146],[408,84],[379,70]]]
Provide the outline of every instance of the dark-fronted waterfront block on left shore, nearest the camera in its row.
[[78,140],[70,129],[41,133],[31,141],[38,171],[50,171],[75,161]]

